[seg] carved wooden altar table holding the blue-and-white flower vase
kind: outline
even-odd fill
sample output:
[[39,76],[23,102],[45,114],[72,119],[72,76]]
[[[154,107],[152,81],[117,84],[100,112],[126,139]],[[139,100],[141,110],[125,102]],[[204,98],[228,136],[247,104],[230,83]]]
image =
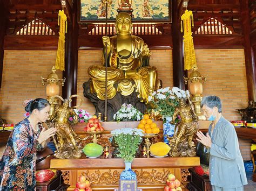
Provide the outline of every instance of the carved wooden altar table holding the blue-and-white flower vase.
[[[60,169],[65,183],[75,189],[78,176],[82,173],[90,180],[93,190],[114,190],[118,188],[119,175],[124,170],[123,159],[52,159],[51,168]],[[138,187],[143,190],[161,190],[167,176],[172,173],[182,181],[181,169],[200,165],[199,157],[184,158],[135,158],[132,170],[136,172]],[[183,182],[186,184],[186,182]],[[181,185],[184,189],[184,185]]]

